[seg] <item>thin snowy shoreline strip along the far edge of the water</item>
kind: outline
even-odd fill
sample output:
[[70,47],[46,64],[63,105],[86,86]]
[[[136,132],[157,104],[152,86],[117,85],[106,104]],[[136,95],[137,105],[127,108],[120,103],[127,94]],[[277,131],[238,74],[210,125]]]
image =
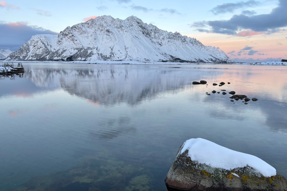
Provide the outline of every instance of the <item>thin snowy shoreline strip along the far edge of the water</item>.
[[[3,60],[5,62],[6,60]],[[95,60],[95,61],[32,61],[32,60],[7,60],[6,62],[22,62],[22,63],[61,63],[61,64],[155,64],[155,65],[196,65],[196,64],[227,64],[227,65],[253,65],[253,66],[286,66],[287,62],[269,61],[269,62],[234,62],[234,63],[212,63],[212,62],[159,62],[159,61],[146,61],[146,60],[127,60],[127,61],[110,61],[110,60]]]

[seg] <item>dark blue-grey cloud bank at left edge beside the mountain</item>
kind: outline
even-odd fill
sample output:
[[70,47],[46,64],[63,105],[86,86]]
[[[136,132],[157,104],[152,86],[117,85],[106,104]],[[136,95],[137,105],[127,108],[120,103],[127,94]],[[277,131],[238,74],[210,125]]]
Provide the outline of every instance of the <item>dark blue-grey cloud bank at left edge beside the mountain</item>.
[[30,26],[28,23],[4,23],[0,22],[0,49],[18,50],[26,41],[36,34],[57,34],[51,30],[38,26]]

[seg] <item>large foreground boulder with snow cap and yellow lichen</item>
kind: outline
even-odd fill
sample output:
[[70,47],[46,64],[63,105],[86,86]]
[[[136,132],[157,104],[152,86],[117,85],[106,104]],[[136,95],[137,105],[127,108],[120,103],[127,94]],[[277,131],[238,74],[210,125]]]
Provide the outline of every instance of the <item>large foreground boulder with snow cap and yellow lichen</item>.
[[171,190],[287,190],[287,180],[260,158],[201,138],[181,145],[165,182]]

